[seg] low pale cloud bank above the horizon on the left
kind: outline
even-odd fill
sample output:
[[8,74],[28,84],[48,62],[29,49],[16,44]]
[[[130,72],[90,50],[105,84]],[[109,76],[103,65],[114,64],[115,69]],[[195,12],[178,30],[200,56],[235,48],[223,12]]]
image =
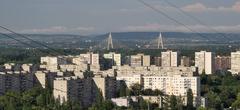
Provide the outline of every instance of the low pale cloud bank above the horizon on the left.
[[41,29],[24,29],[19,31],[20,33],[68,33],[68,32],[91,32],[94,30],[94,27],[76,27],[76,28],[67,28],[65,26],[53,26],[49,28]]

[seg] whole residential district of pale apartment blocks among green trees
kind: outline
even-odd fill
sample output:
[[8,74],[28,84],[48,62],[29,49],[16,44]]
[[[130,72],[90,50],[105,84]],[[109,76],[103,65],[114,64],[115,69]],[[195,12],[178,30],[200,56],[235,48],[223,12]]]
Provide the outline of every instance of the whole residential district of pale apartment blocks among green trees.
[[[101,62],[100,59],[106,59]],[[125,59],[124,63],[122,62]],[[101,64],[104,63],[104,67]],[[117,106],[129,107],[139,97],[149,103],[164,107],[164,97],[180,97],[188,102],[187,93],[192,92],[195,107],[207,107],[207,98],[200,94],[201,74],[227,70],[237,75],[240,72],[240,51],[231,56],[216,56],[213,52],[195,52],[195,60],[179,56],[179,52],[165,51],[159,57],[136,54],[122,58],[110,52],[88,52],[77,56],[44,56],[37,64],[4,64],[0,69],[0,93],[24,91],[41,85],[52,87],[53,96],[60,103],[78,101],[89,107],[97,100],[97,92]],[[159,90],[162,95],[117,95],[122,85],[130,89],[139,85],[143,90]]]

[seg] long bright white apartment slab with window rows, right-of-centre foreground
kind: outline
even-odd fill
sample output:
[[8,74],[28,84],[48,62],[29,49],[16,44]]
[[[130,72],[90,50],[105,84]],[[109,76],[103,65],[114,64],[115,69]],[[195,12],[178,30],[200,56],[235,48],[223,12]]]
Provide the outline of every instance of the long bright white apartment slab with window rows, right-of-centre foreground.
[[144,89],[158,89],[167,95],[186,96],[187,90],[192,89],[193,96],[200,96],[199,77],[174,77],[143,76]]

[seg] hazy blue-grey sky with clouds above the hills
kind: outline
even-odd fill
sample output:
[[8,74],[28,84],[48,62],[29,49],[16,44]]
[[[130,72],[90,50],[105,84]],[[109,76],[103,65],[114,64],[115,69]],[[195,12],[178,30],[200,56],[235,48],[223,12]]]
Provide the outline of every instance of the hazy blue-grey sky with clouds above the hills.
[[30,34],[192,32],[182,24],[194,32],[240,32],[240,0],[168,0],[177,9],[165,0],[144,1],[181,24],[138,0],[0,0],[0,25]]

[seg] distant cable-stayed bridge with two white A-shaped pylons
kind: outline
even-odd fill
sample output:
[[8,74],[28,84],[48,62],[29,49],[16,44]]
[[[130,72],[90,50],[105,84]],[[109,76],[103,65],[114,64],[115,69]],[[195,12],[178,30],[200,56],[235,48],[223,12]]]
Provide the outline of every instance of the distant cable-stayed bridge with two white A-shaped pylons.
[[[164,41],[161,33],[148,38],[139,37],[131,39],[134,36],[117,35],[118,33],[108,33],[102,37],[103,40],[98,40],[93,49],[119,49],[119,48],[142,48],[142,49],[164,49]],[[116,36],[115,36],[116,35]],[[121,38],[120,38],[121,37]],[[146,39],[147,38],[147,39]]]

